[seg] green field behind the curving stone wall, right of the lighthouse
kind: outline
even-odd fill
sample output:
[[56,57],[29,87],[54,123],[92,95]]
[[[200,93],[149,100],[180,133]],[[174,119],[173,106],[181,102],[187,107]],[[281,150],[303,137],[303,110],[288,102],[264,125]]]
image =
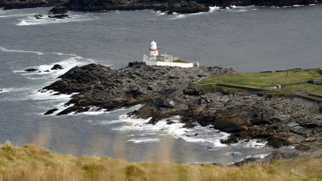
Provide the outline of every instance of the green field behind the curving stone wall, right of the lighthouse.
[[[200,81],[200,84],[227,83],[249,87],[273,87],[286,82],[287,72],[239,72],[235,75],[214,76]],[[320,69],[301,69],[288,72],[288,82],[322,78]]]

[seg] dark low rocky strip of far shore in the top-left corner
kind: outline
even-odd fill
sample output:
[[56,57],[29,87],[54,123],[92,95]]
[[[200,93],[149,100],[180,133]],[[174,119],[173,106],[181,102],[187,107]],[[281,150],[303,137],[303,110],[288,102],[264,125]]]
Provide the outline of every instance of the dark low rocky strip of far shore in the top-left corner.
[[5,10],[33,7],[52,7],[62,5],[66,2],[68,2],[68,0],[0,0],[0,7],[4,7]]

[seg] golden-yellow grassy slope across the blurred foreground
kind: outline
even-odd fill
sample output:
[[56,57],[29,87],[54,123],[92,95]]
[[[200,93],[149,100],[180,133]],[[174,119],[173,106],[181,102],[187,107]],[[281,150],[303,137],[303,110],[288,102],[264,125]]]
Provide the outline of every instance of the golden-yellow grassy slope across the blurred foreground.
[[[315,167],[322,167],[317,161]],[[0,145],[0,181],[254,181],[254,180],[322,180],[321,170],[306,164],[308,169],[278,170],[271,165],[218,167],[177,165],[168,162],[129,163],[109,157],[73,157],[45,150],[35,145],[14,147]],[[312,171],[314,174],[312,174]]]

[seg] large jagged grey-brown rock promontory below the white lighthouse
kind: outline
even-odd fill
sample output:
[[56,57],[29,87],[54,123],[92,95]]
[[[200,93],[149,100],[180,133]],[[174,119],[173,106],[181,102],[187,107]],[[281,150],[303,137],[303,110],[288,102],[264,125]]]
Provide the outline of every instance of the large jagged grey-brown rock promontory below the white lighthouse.
[[[79,92],[65,104],[70,107],[58,113],[54,108],[46,114],[110,111],[144,104],[129,116],[151,118],[148,124],[155,124],[160,119],[180,115],[186,128],[199,123],[231,133],[227,140],[221,141],[224,144],[257,138],[268,141],[267,146],[273,148],[294,146],[297,150],[314,150],[322,147],[322,107],[318,102],[296,95],[187,88],[188,82],[194,79],[233,71],[222,67],[148,66],[144,62],[129,62],[127,67],[113,70],[101,64],[89,64],[72,68],[42,91]],[[90,110],[89,106],[96,108]]]

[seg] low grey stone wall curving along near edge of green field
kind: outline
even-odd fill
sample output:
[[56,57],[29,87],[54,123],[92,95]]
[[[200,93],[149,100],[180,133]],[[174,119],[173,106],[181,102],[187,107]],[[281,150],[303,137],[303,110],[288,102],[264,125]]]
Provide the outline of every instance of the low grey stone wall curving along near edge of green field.
[[277,89],[276,86],[268,87],[268,88],[256,88],[256,87],[246,87],[246,86],[232,85],[232,84],[223,84],[223,83],[210,83],[210,84],[201,85],[196,82],[188,82],[188,88],[195,89],[195,90],[200,88],[205,88],[205,87],[214,87],[214,86],[222,86],[222,87],[244,89],[244,90],[251,90],[251,91],[269,91],[269,90]]

